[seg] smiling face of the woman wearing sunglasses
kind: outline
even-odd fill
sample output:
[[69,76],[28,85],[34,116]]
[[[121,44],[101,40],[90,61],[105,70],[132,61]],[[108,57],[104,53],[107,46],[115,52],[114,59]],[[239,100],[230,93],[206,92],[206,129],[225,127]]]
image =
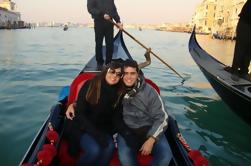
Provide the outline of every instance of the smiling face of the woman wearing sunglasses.
[[107,70],[105,80],[109,85],[115,85],[119,82],[122,76],[121,68]]

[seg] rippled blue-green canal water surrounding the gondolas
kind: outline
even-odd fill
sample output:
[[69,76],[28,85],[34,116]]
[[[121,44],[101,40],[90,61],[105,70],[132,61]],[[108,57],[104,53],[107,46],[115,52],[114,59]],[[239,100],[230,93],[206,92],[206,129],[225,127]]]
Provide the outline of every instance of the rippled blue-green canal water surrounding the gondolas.
[[[251,127],[221,100],[194,63],[188,52],[190,34],[128,32],[189,78],[182,84],[155,58],[143,69],[160,86],[167,111],[190,146],[211,165],[251,165]],[[231,64],[234,42],[198,39],[217,59]],[[144,49],[126,35],[124,40],[133,57],[143,61]],[[18,165],[61,87],[71,83],[93,54],[91,28],[0,31],[0,165]]]

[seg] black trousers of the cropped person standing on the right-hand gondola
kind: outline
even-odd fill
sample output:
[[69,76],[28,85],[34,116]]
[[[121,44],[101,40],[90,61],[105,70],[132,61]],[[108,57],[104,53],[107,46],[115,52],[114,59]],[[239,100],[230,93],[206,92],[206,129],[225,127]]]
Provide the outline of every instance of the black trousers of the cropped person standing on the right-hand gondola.
[[232,68],[234,72],[248,74],[251,60],[251,25],[239,20],[236,29],[236,44]]

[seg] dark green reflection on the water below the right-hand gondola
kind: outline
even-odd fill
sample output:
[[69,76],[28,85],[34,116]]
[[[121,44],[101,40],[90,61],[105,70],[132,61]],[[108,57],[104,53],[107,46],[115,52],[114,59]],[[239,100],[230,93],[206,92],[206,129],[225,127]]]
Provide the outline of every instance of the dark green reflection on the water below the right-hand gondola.
[[[220,100],[194,97],[184,99],[189,103],[185,109],[193,110],[187,111],[186,117],[196,124],[193,132],[204,139],[204,151],[209,154],[212,165],[241,165],[243,161],[249,163],[247,165],[251,164],[251,145],[247,144],[251,139],[250,127],[245,122],[228,112],[227,106]],[[240,123],[236,125],[235,122]],[[217,158],[212,159],[214,156]]]

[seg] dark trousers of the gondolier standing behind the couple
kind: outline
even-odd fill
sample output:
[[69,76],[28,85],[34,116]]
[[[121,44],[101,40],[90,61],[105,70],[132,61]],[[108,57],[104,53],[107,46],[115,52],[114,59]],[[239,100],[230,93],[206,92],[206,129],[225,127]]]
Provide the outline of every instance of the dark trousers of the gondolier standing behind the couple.
[[98,65],[103,65],[104,59],[102,55],[103,39],[106,43],[106,59],[105,64],[112,60],[113,54],[113,24],[104,19],[94,20],[95,42],[96,42],[96,60]]

